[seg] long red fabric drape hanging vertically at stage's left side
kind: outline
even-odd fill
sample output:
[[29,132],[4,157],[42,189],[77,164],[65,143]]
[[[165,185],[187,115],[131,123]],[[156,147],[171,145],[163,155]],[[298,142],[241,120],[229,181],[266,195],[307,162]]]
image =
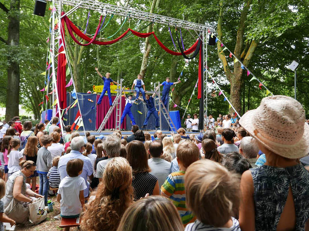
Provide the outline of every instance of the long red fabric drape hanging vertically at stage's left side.
[[[61,21],[61,28],[64,28],[64,21]],[[64,30],[61,31],[61,35],[62,37],[59,41],[59,44],[61,44],[65,38]],[[63,46],[59,48],[58,53],[64,51],[64,47],[65,47],[65,44],[63,43]],[[58,55],[57,90],[58,90],[60,108],[62,109],[66,108],[66,65],[62,67],[62,64],[65,62],[65,60],[66,60],[66,54]],[[53,76],[51,76],[51,78],[52,77]],[[58,105],[56,104],[56,111],[57,111],[57,107]]]

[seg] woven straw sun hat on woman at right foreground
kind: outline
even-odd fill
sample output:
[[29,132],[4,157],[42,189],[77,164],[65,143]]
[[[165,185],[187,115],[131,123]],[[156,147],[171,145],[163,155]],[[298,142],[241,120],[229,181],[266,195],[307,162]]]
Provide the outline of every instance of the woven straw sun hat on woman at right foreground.
[[245,113],[239,123],[277,155],[297,159],[309,153],[309,125],[305,122],[305,110],[291,97],[265,97],[260,106]]

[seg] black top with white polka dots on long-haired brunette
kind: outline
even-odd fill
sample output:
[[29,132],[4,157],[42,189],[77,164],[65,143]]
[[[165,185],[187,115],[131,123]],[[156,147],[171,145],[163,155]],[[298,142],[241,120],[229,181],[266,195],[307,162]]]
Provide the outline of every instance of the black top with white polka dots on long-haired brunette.
[[134,189],[134,200],[136,201],[141,197],[145,197],[146,193],[149,193],[149,196],[152,195],[157,180],[158,178],[149,172],[133,174],[132,186]]

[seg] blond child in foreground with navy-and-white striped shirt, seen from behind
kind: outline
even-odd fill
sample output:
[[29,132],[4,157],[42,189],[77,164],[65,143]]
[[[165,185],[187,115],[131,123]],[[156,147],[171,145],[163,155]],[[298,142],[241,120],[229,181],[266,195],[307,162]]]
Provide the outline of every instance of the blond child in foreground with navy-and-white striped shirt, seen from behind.
[[184,176],[187,206],[197,220],[185,231],[240,231],[233,217],[239,208],[239,175],[208,159],[191,164]]

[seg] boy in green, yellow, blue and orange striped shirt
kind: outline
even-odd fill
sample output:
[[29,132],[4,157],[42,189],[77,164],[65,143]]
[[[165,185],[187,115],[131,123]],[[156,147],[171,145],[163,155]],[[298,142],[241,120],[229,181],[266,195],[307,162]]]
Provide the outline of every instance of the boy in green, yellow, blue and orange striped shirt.
[[184,175],[187,167],[199,159],[199,150],[193,142],[185,141],[178,145],[176,156],[180,171],[168,175],[161,187],[161,196],[169,197],[173,201],[182,223],[186,226],[188,223],[194,222],[196,217],[186,208]]

